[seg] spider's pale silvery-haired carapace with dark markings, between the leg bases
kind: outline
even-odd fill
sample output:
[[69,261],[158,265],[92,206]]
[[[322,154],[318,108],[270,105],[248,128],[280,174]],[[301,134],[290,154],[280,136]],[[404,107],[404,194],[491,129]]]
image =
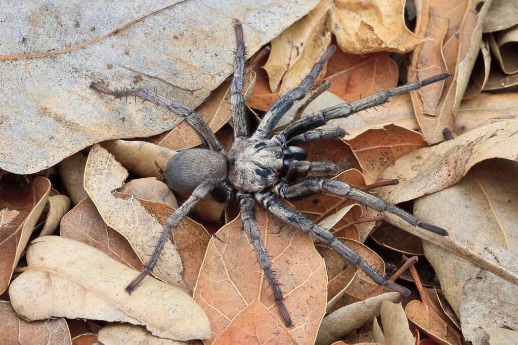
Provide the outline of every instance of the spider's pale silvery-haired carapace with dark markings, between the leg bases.
[[263,190],[277,182],[282,157],[281,147],[269,140],[236,142],[228,153],[228,179],[242,191]]

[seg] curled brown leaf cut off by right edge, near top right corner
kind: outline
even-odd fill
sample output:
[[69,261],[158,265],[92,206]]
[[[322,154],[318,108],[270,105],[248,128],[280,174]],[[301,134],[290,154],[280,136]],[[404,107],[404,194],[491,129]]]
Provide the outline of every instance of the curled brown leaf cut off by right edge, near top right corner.
[[[518,22],[517,22],[518,23]],[[506,74],[518,73],[518,25],[505,31],[488,34],[491,53],[498,61],[501,70]]]

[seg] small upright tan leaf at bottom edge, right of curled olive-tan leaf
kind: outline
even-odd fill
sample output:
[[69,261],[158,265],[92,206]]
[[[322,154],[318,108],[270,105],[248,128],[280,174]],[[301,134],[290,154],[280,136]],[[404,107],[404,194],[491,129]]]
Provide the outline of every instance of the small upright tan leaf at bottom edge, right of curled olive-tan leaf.
[[383,301],[381,323],[386,345],[414,345],[415,339],[408,329],[408,320],[400,303]]

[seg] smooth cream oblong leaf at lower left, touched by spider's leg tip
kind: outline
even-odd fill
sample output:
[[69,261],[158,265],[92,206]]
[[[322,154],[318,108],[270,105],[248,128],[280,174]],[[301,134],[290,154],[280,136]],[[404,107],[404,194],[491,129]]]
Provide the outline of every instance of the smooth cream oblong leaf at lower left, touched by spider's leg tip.
[[130,295],[124,288],[138,272],[91,246],[43,236],[33,241],[26,258],[28,267],[11,283],[9,296],[28,320],[122,321],[146,325],[163,338],[210,337],[209,320],[191,296],[150,277]]

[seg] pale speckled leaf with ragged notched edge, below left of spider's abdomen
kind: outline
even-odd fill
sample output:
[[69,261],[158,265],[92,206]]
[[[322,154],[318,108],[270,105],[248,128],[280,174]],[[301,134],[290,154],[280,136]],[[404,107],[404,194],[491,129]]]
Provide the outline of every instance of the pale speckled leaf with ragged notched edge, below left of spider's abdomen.
[[[94,145],[84,170],[84,189],[106,224],[126,237],[140,260],[146,262],[162,233],[162,225],[137,199],[113,196],[112,191],[122,186],[127,175],[106,149]],[[181,284],[183,267],[176,245],[166,241],[161,258],[153,273],[164,281]]]

